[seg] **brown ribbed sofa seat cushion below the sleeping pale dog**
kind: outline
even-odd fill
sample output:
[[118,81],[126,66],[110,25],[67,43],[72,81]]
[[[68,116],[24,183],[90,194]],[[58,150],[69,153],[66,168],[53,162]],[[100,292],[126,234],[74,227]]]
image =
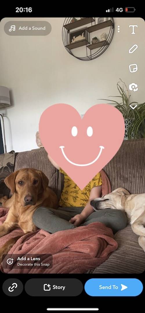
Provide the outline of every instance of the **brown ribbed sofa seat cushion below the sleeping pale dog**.
[[118,249],[95,270],[93,274],[138,274],[145,270],[145,253],[138,244],[138,236],[133,233],[131,225],[119,230],[114,239]]

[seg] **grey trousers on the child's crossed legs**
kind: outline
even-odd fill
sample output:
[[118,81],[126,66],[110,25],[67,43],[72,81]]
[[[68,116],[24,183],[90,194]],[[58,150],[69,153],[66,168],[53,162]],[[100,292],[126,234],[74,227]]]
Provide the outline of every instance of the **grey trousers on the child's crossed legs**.
[[[76,214],[80,214],[84,208],[82,207],[59,207],[57,210],[52,208],[39,207],[33,214],[33,223],[49,233],[55,233],[60,230],[75,228],[69,222],[70,218]],[[111,228],[113,233],[125,228],[127,225],[127,217],[120,210],[105,209],[94,211],[79,226],[88,225],[93,222],[104,223]]]

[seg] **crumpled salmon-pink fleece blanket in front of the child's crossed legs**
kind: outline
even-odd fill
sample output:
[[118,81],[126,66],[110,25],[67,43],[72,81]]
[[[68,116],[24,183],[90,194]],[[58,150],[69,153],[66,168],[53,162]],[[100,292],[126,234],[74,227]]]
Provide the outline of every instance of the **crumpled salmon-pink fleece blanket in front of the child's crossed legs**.
[[[0,208],[0,224],[7,216],[8,209]],[[0,246],[12,237],[23,234],[16,229],[0,238]],[[25,268],[3,269],[4,273],[44,273],[44,274],[78,274],[85,273],[89,269],[95,269],[103,263],[117,249],[117,242],[113,239],[113,233],[102,223],[91,223],[87,226],[75,229],[59,231],[50,234],[44,230],[23,235],[9,251],[9,254],[52,254],[52,268]],[[43,260],[49,263],[49,259]]]

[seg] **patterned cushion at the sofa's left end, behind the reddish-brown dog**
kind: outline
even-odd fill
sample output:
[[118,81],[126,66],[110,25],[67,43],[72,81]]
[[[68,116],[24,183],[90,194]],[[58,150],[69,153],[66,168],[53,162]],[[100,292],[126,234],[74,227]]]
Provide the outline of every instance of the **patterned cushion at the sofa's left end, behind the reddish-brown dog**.
[[4,179],[13,173],[15,163],[15,151],[0,154],[0,197],[9,196],[9,188],[5,185]]

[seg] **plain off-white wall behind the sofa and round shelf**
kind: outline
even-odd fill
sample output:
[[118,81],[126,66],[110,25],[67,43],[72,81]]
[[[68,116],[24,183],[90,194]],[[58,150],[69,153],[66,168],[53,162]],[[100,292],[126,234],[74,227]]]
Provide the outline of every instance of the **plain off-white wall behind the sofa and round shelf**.
[[[68,103],[80,114],[85,113],[92,105],[101,103],[97,99],[118,94],[119,78],[127,85],[138,84],[138,91],[131,92],[132,101],[145,101],[143,19],[114,18],[115,32],[110,46],[91,61],[81,61],[66,51],[61,34],[64,18],[31,18],[51,24],[48,36],[8,36],[3,27],[9,20],[16,18],[4,18],[0,23],[0,85],[11,90],[13,100],[12,107],[0,110],[7,115],[4,118],[7,151],[37,148],[35,133],[40,115],[49,105]],[[131,35],[129,24],[138,25],[136,35]],[[133,44],[138,49],[129,54]],[[134,74],[128,69],[132,63],[138,65]]]

